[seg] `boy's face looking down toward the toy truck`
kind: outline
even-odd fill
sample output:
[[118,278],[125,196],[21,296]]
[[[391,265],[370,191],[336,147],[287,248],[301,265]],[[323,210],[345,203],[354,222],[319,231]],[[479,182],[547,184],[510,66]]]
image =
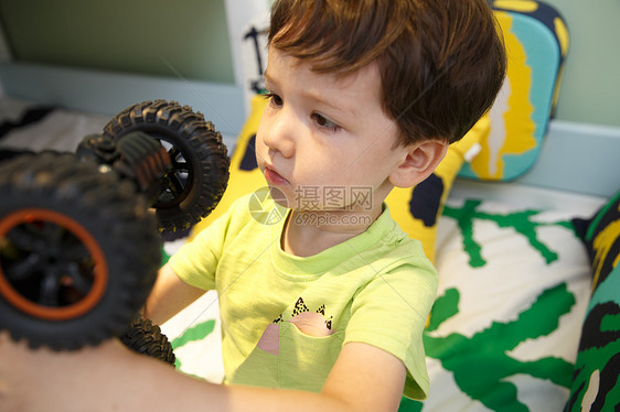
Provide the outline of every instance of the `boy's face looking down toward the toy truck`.
[[396,144],[398,129],[383,111],[376,65],[336,78],[270,47],[265,76],[270,100],[256,158],[285,206],[339,209],[357,199],[364,210],[381,210],[407,149]]

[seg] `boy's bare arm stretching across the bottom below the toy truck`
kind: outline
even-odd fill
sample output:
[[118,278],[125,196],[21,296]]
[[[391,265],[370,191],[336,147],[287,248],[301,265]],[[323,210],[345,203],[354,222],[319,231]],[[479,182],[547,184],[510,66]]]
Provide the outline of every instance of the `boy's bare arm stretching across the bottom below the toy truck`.
[[405,367],[366,344],[344,345],[322,393],[220,386],[177,372],[118,340],[79,351],[29,350],[0,333],[0,410],[396,411]]

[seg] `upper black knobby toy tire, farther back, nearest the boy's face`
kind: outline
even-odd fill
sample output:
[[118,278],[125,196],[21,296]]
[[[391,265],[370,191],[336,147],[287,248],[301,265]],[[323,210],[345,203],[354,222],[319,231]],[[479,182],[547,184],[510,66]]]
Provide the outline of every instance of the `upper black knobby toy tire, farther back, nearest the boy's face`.
[[224,195],[229,166],[213,123],[189,106],[160,99],[128,107],[104,128],[104,134],[116,141],[132,131],[170,145],[173,170],[167,175],[162,200],[152,205],[162,234],[188,229],[209,215]]

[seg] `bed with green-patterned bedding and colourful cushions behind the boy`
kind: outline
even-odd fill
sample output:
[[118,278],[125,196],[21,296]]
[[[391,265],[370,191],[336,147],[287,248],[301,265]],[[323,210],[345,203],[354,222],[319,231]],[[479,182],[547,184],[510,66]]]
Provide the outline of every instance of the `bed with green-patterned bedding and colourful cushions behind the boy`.
[[[620,130],[553,119],[568,31],[556,10],[531,3],[495,7],[510,57],[493,109],[432,178],[387,199],[439,272],[424,335],[430,394],[425,402],[404,399],[400,411],[594,411],[620,403]],[[264,22],[257,17],[246,29]],[[258,43],[240,42],[244,62],[254,61]],[[23,151],[73,151],[140,100],[193,106],[223,132],[232,175],[211,216],[188,237],[167,239],[171,254],[233,199],[265,185],[252,162],[264,105],[254,96],[260,67],[244,69],[243,85],[222,86],[2,64],[0,161]],[[585,159],[592,164],[576,167]],[[216,382],[217,312],[209,292],[162,325],[177,367]]]

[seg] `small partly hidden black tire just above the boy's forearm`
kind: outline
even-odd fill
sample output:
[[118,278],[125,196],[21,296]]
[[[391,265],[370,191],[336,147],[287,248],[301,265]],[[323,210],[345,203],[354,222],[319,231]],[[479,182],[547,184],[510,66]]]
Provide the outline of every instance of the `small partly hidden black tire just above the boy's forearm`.
[[160,327],[153,325],[150,319],[136,316],[129,330],[120,336],[120,340],[138,354],[174,365],[175,357],[172,345],[170,345],[168,337],[161,333]]

